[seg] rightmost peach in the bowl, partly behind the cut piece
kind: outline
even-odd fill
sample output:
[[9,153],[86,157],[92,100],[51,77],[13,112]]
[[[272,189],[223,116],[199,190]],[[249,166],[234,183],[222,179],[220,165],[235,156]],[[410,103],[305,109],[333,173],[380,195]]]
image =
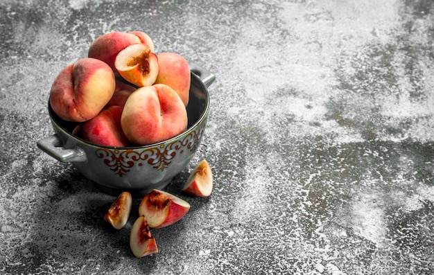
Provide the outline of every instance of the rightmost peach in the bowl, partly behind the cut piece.
[[189,104],[190,66],[189,62],[177,53],[159,53],[159,71],[155,83],[161,83],[174,89],[186,106]]

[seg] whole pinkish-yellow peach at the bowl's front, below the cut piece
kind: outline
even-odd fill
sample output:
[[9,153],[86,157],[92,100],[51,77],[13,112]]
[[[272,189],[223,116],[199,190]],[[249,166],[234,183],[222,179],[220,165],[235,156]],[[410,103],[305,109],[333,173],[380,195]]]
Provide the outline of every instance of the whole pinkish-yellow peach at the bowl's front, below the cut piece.
[[163,84],[141,87],[128,97],[121,117],[125,136],[134,145],[149,145],[171,139],[186,130],[186,108],[171,87]]

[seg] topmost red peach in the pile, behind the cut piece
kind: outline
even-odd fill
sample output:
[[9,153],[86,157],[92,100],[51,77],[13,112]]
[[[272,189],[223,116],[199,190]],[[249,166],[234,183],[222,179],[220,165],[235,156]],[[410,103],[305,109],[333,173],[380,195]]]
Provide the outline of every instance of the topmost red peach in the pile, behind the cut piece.
[[127,46],[137,43],[141,43],[141,39],[132,33],[105,33],[92,41],[87,57],[104,61],[112,68],[114,75],[119,76],[114,67],[116,55]]

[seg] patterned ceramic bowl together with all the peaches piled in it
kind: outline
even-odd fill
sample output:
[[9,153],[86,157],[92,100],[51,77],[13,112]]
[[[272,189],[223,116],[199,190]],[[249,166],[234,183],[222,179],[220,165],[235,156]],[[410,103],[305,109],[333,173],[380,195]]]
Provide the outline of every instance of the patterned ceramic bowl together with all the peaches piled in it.
[[196,153],[214,80],[177,53],[155,53],[146,33],[105,33],[53,81],[55,134],[37,146],[106,193],[146,195],[166,187]]

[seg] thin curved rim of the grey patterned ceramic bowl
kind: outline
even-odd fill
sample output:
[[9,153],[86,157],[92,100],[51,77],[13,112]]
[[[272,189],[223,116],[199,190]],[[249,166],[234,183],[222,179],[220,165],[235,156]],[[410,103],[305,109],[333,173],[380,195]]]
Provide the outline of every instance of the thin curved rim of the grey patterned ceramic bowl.
[[[62,130],[67,136],[71,137],[72,139],[76,139],[80,143],[85,143],[86,145],[96,147],[96,148],[107,148],[112,150],[137,150],[137,149],[148,149],[148,148],[154,148],[154,147],[161,147],[165,143],[172,143],[173,141],[176,141],[177,139],[181,139],[183,136],[193,132],[200,123],[202,123],[208,115],[209,112],[209,91],[207,89],[207,86],[204,82],[200,79],[200,77],[196,76],[195,73],[191,72],[191,85],[193,85],[193,81],[195,82],[195,86],[198,87],[200,91],[202,91],[205,94],[205,109],[200,114],[199,118],[190,126],[188,127],[184,132],[181,134],[178,134],[177,136],[173,136],[171,139],[166,139],[165,141],[160,141],[158,143],[152,143],[148,145],[142,145],[142,146],[127,146],[127,147],[114,147],[114,146],[107,146],[107,145],[99,145],[96,143],[92,143],[89,141],[86,141],[85,139],[80,138],[80,136],[76,136],[71,133],[71,131],[67,130],[67,127],[64,127],[63,125],[60,125],[59,120],[62,120],[62,118],[59,118],[57,114],[54,113],[53,108],[50,105],[50,100],[48,100],[48,110],[49,110],[49,116],[52,123],[55,124],[55,127],[58,127]],[[196,85],[197,84],[197,85]],[[190,88],[191,89],[191,88]],[[188,105],[187,105],[188,106]],[[56,119],[57,117],[57,119]],[[73,123],[67,121],[67,123]]]

